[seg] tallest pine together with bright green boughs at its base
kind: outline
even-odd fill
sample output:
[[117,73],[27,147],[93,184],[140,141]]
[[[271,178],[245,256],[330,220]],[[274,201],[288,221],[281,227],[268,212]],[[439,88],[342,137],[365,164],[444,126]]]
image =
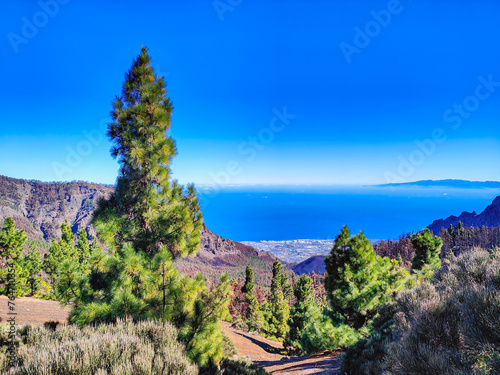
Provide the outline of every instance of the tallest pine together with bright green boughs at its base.
[[217,321],[227,310],[229,282],[223,276],[209,293],[201,275],[180,275],[173,265],[198,250],[203,219],[194,186],[185,189],[171,179],[177,153],[168,135],[172,110],[164,79],[143,47],[108,127],[121,167],[115,192],[99,202],[93,225],[109,253],[93,257],[88,289],[70,319],[79,325],[124,316],[168,320],[179,328],[188,356],[207,368],[222,358]]

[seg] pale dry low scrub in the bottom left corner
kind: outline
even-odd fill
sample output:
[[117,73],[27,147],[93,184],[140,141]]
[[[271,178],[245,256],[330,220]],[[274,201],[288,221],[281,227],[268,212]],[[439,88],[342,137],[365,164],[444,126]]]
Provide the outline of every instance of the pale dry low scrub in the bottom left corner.
[[19,364],[7,370],[9,326],[2,325],[2,374],[153,375],[198,373],[169,323],[119,321],[97,327],[63,326],[55,331],[36,326],[18,329]]

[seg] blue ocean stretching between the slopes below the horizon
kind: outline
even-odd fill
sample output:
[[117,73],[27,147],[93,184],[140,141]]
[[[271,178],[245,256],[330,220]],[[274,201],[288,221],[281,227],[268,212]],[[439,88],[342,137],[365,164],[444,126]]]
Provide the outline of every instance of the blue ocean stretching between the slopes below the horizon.
[[202,186],[205,223],[235,241],[333,239],[343,225],[397,239],[434,220],[477,213],[500,189],[419,186]]

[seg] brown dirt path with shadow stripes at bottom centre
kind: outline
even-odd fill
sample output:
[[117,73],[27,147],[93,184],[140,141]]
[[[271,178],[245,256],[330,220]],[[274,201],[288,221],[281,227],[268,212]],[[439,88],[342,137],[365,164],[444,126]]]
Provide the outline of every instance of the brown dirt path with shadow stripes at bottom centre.
[[265,350],[266,348],[283,349],[280,342],[231,328],[231,324],[227,322],[222,322],[221,328],[236,346],[240,357],[264,367],[272,374],[340,374],[341,360],[335,354],[325,353],[309,357],[286,357]]

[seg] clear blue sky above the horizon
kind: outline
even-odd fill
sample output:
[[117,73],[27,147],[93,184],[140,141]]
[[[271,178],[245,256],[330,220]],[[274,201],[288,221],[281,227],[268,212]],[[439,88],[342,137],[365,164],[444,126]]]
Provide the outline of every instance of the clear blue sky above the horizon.
[[2,5],[0,174],[114,183],[103,125],[145,45],[182,183],[500,180],[498,1]]

